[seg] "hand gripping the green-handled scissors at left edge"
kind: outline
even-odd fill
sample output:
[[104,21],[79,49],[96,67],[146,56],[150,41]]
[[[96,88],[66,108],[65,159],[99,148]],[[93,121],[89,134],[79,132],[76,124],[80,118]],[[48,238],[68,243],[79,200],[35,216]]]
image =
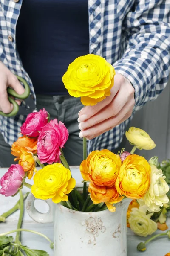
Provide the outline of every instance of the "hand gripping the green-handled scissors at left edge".
[[[8,101],[7,87],[11,87],[18,94],[23,94],[25,89],[17,77],[0,61],[0,111],[8,114],[13,110],[13,105]],[[21,101],[16,100],[20,105]]]

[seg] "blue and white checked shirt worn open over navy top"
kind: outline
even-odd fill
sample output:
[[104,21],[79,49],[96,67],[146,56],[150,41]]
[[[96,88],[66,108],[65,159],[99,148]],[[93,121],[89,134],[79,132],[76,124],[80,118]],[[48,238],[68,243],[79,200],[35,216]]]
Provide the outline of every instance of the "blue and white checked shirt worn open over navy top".
[[[88,0],[90,52],[113,64],[135,88],[134,111],[156,99],[170,71],[170,0]],[[31,88],[16,49],[16,24],[22,0],[0,0],[0,61]],[[126,92],[125,92],[126,93]],[[35,95],[34,95],[35,96]],[[0,116],[7,143],[17,140],[26,116]],[[132,117],[131,117],[132,118]],[[130,119],[131,119],[130,118]],[[130,119],[91,140],[90,151],[117,148]]]

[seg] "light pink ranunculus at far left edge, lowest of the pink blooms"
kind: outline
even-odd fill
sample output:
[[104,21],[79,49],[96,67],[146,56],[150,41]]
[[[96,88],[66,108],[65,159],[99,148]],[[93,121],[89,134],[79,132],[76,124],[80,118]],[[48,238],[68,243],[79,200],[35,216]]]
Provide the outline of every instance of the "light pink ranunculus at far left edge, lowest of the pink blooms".
[[11,164],[3,177],[0,179],[0,194],[5,196],[11,196],[17,193],[18,189],[22,185],[25,172],[23,167],[19,164]]

